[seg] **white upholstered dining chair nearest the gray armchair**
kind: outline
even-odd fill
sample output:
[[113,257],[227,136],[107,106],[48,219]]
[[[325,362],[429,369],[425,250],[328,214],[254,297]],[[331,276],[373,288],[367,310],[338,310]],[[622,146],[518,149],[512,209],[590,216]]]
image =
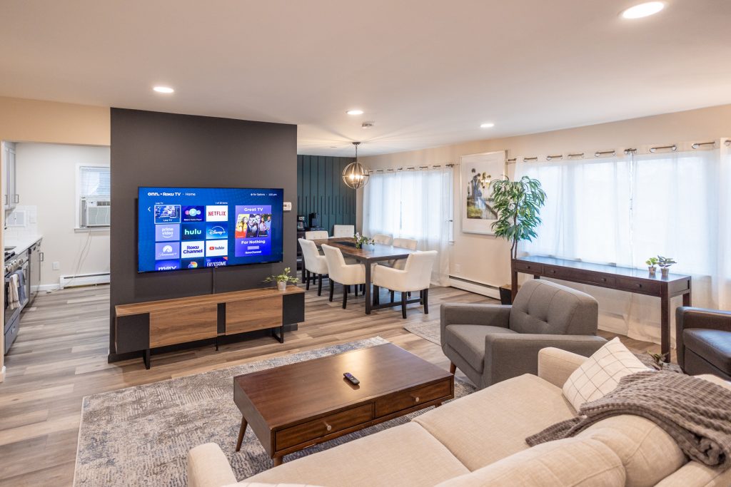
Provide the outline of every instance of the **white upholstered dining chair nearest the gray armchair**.
[[401,293],[401,315],[406,319],[406,300],[411,292],[420,292],[420,301],[424,305],[424,314],[429,314],[429,284],[431,269],[436,259],[436,250],[412,253],[406,258],[404,269],[388,266],[375,266],[373,272],[373,293],[378,296],[379,288],[386,288],[392,293]]

